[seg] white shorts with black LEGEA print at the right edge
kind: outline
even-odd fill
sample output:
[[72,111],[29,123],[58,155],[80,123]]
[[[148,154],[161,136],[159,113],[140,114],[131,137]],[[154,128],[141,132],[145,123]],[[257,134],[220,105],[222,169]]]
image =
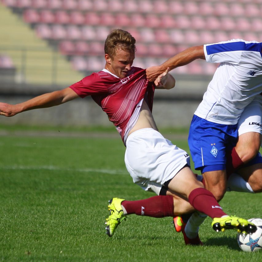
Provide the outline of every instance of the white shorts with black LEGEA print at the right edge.
[[238,135],[247,132],[262,134],[262,96],[257,95],[254,100],[246,106],[238,120]]

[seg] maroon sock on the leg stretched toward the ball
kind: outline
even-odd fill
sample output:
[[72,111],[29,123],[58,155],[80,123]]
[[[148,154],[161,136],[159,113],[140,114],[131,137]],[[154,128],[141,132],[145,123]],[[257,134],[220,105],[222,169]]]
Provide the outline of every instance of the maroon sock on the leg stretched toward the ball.
[[218,204],[214,195],[205,188],[199,187],[191,191],[188,201],[194,207],[194,209],[205,213],[211,218],[222,217],[226,215],[226,213],[223,212],[221,206]]

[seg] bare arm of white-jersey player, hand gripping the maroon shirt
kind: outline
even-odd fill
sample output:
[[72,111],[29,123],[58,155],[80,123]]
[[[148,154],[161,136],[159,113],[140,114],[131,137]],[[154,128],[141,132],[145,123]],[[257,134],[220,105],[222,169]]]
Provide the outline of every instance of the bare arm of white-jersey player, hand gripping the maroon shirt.
[[187,65],[198,58],[205,60],[203,45],[187,48],[184,51],[176,54],[174,57],[169,58],[162,65],[147,68],[147,79],[149,79],[149,81],[154,81],[158,75],[165,72],[166,68],[169,67],[170,70],[172,70],[178,66]]

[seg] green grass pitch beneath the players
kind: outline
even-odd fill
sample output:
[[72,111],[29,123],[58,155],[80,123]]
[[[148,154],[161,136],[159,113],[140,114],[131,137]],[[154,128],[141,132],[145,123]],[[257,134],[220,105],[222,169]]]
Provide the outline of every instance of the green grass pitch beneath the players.
[[[203,247],[185,246],[171,217],[131,215],[109,238],[109,199],[154,196],[133,184],[120,137],[58,128],[26,135],[32,130],[42,128],[0,126],[1,261],[262,260],[262,252],[240,251],[235,231],[213,231],[210,218],[200,229]],[[189,152],[185,133],[165,132]],[[262,217],[261,194],[230,192],[221,205],[230,214]]]

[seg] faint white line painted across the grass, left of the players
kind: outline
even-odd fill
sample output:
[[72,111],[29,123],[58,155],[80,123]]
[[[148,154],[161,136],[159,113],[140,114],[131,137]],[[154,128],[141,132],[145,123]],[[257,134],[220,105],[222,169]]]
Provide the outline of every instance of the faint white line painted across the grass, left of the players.
[[127,174],[127,170],[97,169],[97,168],[61,168],[59,166],[0,166],[0,169],[7,170],[58,170],[76,172],[97,172],[105,174]]

